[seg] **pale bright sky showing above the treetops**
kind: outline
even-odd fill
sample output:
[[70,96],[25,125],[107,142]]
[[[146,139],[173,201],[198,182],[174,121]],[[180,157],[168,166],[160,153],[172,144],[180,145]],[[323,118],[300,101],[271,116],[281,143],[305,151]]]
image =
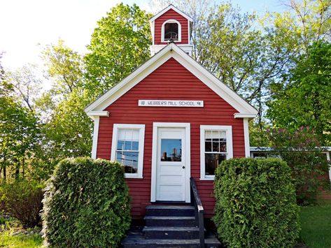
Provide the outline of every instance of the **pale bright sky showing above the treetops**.
[[[14,70],[24,64],[43,64],[41,50],[62,38],[84,53],[97,21],[120,0],[0,0],[1,64]],[[150,11],[148,1],[123,0]],[[281,0],[232,0],[244,12],[281,11]]]

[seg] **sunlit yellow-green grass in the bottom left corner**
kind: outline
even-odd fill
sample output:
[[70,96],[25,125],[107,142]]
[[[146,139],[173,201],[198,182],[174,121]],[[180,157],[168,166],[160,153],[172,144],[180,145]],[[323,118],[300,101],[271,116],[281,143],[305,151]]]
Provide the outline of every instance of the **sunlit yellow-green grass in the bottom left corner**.
[[9,231],[0,232],[0,247],[41,247],[43,238],[41,235],[11,235]]

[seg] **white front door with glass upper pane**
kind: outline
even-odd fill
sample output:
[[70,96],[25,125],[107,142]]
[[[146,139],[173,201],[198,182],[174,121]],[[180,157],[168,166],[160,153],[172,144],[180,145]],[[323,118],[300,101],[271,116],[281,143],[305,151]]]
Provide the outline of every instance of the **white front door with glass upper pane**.
[[157,129],[156,200],[185,201],[185,128]]

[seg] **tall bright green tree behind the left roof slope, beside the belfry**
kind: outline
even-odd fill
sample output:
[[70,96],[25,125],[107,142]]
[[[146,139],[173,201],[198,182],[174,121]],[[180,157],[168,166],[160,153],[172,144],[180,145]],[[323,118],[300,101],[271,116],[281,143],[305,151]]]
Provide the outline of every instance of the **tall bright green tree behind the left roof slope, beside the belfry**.
[[85,55],[85,87],[95,99],[150,57],[148,15],[122,3],[97,22]]

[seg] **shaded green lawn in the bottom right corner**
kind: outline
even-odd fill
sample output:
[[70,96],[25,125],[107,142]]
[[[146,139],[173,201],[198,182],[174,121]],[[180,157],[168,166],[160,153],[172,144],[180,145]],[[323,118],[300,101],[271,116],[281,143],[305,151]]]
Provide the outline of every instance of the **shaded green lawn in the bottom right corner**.
[[331,200],[301,207],[301,240],[309,248],[331,247]]

